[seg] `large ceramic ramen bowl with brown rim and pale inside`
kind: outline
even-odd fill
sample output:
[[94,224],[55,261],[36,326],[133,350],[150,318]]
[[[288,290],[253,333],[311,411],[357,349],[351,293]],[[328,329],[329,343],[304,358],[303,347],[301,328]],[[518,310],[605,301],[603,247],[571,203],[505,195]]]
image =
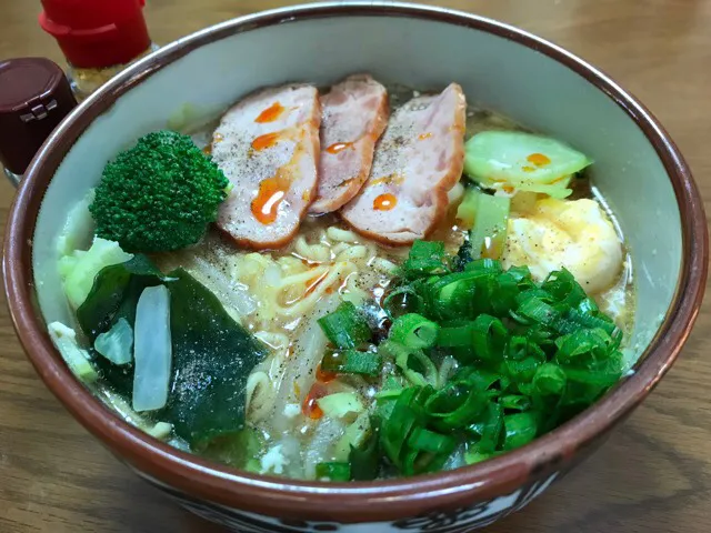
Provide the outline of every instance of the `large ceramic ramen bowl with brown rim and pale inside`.
[[[127,423],[68,370],[47,323],[68,320],[56,270],[67,207],[140,135],[226,109],[271,84],[458,81],[471,101],[590,154],[637,273],[638,363],[601,401],[513,452],[415,477],[324,483],[249,474]],[[660,223],[661,222],[661,223]],[[593,67],[515,28],[393,2],[318,3],[231,20],[180,39],[79,105],[34,158],[12,208],[4,283],[18,336],[47,386],[120,461],[190,511],[242,532],[464,532],[523,507],[598,447],[679,355],[705,286],[705,217],[689,168],[657,119]]]

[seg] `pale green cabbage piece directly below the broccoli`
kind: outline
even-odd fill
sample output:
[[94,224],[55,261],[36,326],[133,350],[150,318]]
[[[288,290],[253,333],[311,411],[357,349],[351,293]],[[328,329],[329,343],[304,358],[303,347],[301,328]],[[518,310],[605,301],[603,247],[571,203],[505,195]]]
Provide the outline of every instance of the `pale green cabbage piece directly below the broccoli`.
[[118,242],[96,238],[89,250],[77,250],[59,260],[59,274],[64,293],[73,309],[79,308],[91,291],[93,280],[101,269],[130,260],[132,255],[121,250]]

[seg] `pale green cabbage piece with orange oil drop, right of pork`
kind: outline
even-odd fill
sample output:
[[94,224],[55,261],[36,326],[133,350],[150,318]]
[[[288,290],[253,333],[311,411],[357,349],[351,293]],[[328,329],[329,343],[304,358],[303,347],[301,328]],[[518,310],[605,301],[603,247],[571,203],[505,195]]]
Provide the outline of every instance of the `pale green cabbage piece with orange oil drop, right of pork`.
[[482,131],[465,144],[464,173],[484,189],[565,198],[570,179],[592,163],[560,141],[518,131]]

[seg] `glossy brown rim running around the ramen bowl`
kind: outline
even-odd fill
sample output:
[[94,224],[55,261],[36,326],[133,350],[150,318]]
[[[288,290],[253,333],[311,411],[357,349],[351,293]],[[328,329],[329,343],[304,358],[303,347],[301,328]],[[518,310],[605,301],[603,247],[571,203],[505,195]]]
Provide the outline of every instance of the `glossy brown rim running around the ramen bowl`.
[[[39,313],[32,279],[32,235],[54,171],[83,130],[112,102],[160,68],[226,37],[306,19],[389,16],[463,26],[531,48],[568,67],[611,98],[643,131],[662,160],[681,212],[683,258],[677,291],[635,372],[594,406],[531,444],[474,466],[378,482],[300,482],[252,475],[172,449],[129,425],[82,386],[57,353]],[[317,521],[389,521],[430,509],[454,509],[515,491],[525,479],[555,471],[557,461],[598,441],[629,414],[674,362],[697,319],[708,270],[703,203],[677,145],[654,115],[605,74],[562,48],[479,16],[419,4],[326,2],[247,16],[169,44],[123,71],[74,110],[32,161],[12,205],[4,240],[4,289],[17,334],[47,386],[111,451],[193,497],[267,515]]]

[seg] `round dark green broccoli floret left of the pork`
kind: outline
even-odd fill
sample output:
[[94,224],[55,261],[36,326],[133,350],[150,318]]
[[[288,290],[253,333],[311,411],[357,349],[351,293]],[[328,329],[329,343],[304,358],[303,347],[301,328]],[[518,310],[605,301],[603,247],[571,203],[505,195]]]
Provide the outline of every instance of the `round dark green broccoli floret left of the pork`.
[[217,220],[228,184],[190,137],[157,131],[107,164],[89,210],[97,235],[127,252],[179,250]]

